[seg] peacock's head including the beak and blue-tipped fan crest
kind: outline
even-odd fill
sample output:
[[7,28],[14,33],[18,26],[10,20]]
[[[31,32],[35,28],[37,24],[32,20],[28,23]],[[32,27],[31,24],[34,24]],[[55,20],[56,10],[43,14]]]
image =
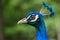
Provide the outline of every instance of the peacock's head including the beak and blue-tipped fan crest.
[[20,21],[17,22],[19,23],[28,23],[33,26],[40,26],[43,23],[42,16],[54,16],[54,11],[51,6],[43,2],[43,6],[46,7],[47,10],[50,11],[50,14],[44,14],[45,9],[41,8],[40,12],[34,11],[34,12],[29,12],[28,15],[26,15],[25,18],[21,19]]

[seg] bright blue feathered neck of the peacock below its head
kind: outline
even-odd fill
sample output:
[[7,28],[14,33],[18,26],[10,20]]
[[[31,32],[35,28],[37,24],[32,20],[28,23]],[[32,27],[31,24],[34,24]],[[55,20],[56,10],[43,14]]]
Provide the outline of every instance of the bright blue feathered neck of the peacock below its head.
[[[38,30],[38,28],[40,29],[40,31]],[[36,40],[48,40],[45,24],[42,23],[42,25],[39,25],[38,28],[36,28]]]

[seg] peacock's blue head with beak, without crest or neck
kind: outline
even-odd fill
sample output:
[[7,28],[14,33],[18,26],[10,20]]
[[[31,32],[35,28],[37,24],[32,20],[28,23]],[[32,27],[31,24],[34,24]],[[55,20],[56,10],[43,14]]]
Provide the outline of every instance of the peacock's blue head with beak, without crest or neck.
[[41,23],[40,13],[37,11],[30,12],[26,15],[25,18],[23,18],[17,22],[17,24],[19,24],[19,23],[27,23],[32,26],[40,25],[40,23]]

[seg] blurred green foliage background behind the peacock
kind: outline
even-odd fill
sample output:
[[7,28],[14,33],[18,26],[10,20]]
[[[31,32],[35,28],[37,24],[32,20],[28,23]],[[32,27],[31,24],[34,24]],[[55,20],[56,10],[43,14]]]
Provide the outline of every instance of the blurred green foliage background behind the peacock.
[[49,40],[57,40],[57,29],[60,23],[60,0],[2,0],[5,40],[35,40],[35,28],[17,21],[30,11],[40,11],[42,2],[53,7],[54,17],[44,18]]

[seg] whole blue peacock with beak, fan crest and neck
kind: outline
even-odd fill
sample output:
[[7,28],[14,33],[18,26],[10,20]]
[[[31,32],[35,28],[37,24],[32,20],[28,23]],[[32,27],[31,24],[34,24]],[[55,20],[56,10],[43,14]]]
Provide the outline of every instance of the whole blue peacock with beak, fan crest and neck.
[[27,23],[29,25],[34,26],[36,28],[36,40],[48,40],[43,16],[45,17],[54,16],[54,11],[50,5],[43,2],[43,6],[50,11],[50,14],[43,14],[44,10],[42,9],[40,11],[32,11],[29,12],[25,18],[17,22],[17,24]]

